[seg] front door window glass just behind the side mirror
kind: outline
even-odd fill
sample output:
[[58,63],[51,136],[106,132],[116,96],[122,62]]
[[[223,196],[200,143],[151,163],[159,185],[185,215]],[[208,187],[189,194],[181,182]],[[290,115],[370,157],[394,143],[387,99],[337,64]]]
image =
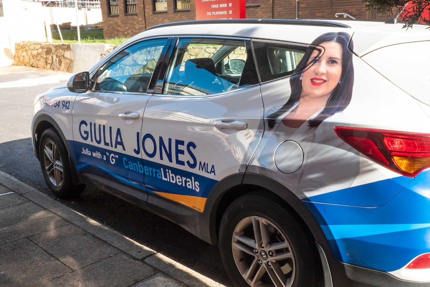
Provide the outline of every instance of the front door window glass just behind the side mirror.
[[166,42],[148,40],[117,53],[99,69],[94,89],[145,93]]

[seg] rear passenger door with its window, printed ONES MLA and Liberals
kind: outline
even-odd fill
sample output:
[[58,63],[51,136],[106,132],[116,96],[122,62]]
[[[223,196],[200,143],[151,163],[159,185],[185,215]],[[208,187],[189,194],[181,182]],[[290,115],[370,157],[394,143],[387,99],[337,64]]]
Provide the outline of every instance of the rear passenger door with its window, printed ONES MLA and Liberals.
[[248,40],[178,39],[164,86],[144,113],[141,154],[151,208],[167,199],[203,212],[215,184],[244,171],[262,116]]

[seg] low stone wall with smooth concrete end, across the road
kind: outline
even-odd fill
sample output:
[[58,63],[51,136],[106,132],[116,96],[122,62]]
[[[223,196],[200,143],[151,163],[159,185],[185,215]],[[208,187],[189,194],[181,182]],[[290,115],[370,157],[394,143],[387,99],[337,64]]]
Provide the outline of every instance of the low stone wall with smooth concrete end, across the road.
[[16,43],[13,64],[77,73],[89,70],[114,48],[109,44]]

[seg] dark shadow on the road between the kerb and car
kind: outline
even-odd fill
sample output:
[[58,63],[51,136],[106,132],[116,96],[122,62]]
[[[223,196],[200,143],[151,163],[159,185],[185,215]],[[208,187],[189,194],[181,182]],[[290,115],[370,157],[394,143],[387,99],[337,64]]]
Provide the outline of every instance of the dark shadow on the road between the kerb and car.
[[[84,193],[70,200],[53,196],[44,184],[30,138],[0,143],[0,170],[222,285],[231,285],[217,247],[203,242],[178,225],[94,186],[87,186]],[[0,251],[0,254],[3,253]]]

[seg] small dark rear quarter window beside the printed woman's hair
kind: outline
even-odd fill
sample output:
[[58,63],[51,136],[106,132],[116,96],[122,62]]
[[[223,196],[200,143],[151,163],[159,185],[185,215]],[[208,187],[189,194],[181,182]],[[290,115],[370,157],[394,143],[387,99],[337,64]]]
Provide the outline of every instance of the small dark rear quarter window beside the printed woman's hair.
[[[270,81],[300,72],[297,65],[310,47],[277,42],[253,41],[261,81]],[[305,67],[303,67],[304,69]]]

